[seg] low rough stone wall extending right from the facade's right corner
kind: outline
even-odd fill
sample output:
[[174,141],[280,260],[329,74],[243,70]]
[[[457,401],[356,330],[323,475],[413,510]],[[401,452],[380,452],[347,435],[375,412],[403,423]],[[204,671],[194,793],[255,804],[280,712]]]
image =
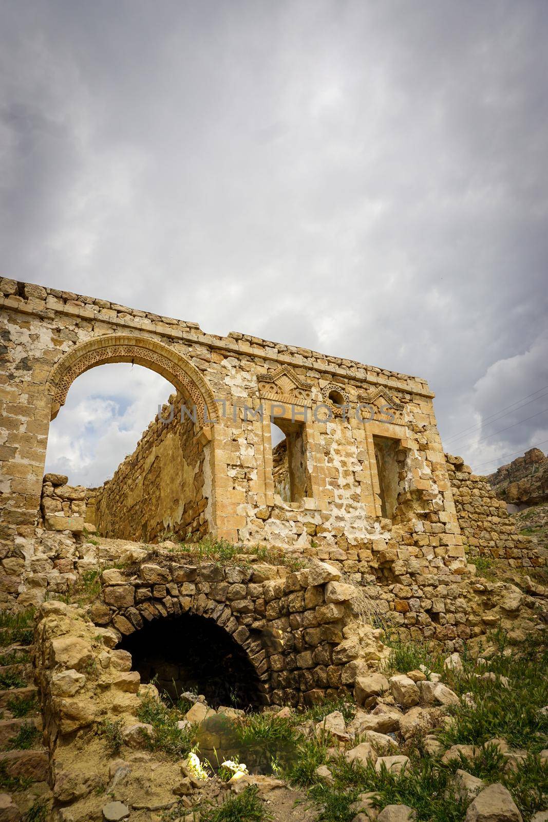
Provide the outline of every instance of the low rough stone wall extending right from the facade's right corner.
[[546,565],[548,552],[530,537],[522,536],[506,503],[497,499],[488,478],[477,477],[462,457],[445,455],[458,524],[469,556],[505,559],[514,567]]

